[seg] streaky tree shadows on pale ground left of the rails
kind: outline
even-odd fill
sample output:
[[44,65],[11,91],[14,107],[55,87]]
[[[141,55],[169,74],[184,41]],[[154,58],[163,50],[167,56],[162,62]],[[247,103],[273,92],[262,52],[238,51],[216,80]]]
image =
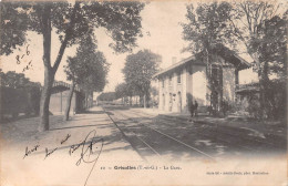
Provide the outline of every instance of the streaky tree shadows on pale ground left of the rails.
[[[72,140],[71,143],[81,143],[91,131],[95,130],[95,138],[103,140],[103,152],[132,149],[130,144],[124,140],[122,133],[115,127],[103,111],[78,114],[68,122],[63,120],[62,115],[51,115],[50,130],[42,133],[37,131],[39,122],[39,117],[33,117],[1,125],[2,138],[6,140],[4,142],[7,145],[9,144],[10,147],[21,146],[20,149],[39,143],[41,146],[59,145],[59,149],[69,151],[73,144],[61,145],[59,140],[70,134],[70,138]],[[86,143],[91,143],[91,137],[92,136],[89,137]],[[43,152],[39,153],[41,154]]]

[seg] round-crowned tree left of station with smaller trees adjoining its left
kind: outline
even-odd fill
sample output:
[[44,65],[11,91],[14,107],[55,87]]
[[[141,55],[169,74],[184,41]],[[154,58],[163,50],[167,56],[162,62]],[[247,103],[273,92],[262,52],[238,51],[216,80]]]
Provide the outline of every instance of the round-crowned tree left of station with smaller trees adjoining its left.
[[140,96],[141,104],[146,107],[151,100],[151,81],[152,76],[158,72],[161,55],[150,50],[141,50],[135,54],[126,56],[123,74],[125,82],[115,87],[116,97]]

